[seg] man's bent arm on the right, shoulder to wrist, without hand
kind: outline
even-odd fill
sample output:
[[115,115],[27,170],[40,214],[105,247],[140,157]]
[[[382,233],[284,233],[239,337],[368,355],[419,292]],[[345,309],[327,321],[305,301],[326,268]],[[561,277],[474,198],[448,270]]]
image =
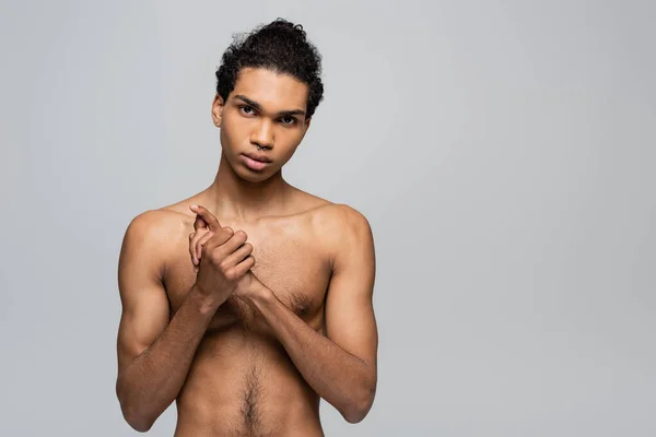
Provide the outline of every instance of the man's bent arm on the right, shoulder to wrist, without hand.
[[[324,336],[286,308],[265,285],[248,297],[307,383],[349,423],[368,413],[376,391],[378,333],[372,295],[375,256],[366,218],[340,208]],[[259,281],[257,282],[258,284]]]

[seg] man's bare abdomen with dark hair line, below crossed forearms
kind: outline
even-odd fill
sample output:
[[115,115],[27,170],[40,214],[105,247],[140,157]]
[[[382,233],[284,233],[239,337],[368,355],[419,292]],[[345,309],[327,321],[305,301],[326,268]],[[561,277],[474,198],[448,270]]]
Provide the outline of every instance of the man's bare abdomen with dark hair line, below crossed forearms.
[[233,326],[199,345],[176,436],[323,436],[319,397],[274,339]]

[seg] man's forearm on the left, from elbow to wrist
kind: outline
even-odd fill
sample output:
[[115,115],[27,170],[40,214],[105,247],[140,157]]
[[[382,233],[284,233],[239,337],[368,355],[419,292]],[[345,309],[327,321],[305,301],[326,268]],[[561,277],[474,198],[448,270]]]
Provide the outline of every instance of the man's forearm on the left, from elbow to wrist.
[[132,427],[148,430],[178,395],[216,308],[191,287],[160,338],[119,374],[116,391]]

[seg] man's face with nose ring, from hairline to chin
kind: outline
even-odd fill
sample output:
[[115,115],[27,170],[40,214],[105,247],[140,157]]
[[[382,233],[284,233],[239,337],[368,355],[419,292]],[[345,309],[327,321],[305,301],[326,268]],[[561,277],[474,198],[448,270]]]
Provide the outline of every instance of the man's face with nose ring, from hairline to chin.
[[309,127],[308,92],[290,75],[247,68],[226,102],[214,98],[212,117],[221,127],[223,153],[239,177],[266,180],[292,157]]

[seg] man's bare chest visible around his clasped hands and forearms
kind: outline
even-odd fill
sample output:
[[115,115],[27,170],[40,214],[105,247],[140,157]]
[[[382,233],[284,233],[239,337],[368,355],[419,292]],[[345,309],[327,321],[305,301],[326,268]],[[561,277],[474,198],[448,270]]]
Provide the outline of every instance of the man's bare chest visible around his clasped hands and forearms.
[[[246,227],[223,223],[243,229],[254,246],[256,264],[253,273],[294,314],[316,330],[323,324],[323,309],[330,281],[330,262],[311,232],[298,226],[260,225]],[[196,272],[189,257],[187,235],[176,243],[164,275],[172,317],[183,304],[196,282]],[[263,331],[254,310],[238,298],[229,298],[214,315],[209,329],[246,328]]]

